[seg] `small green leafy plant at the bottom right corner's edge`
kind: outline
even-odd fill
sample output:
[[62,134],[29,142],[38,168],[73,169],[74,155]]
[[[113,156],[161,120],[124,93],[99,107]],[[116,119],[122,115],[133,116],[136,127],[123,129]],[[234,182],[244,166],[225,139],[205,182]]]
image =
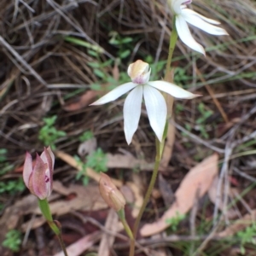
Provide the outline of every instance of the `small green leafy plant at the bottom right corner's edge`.
[[248,226],[245,230],[237,232],[236,236],[238,236],[240,239],[240,250],[241,254],[244,255],[246,253],[244,247],[246,243],[256,244],[256,223],[253,223],[251,226]]

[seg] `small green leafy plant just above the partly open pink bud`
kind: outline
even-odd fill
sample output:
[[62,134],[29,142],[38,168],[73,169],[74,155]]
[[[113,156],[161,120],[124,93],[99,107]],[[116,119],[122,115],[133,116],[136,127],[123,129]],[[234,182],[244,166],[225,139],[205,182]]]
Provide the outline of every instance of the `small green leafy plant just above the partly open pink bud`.
[[50,146],[53,150],[56,148],[56,140],[67,135],[65,131],[58,131],[55,128],[54,125],[56,119],[56,115],[49,118],[44,118],[44,126],[40,129],[38,136],[38,139],[44,143],[45,146]]

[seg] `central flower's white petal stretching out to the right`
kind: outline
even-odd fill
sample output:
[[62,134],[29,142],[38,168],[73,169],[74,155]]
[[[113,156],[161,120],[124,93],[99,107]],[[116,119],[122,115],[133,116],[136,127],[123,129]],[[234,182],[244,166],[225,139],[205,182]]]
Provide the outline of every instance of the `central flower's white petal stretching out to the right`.
[[154,81],[148,82],[148,85],[153,86],[158,90],[165,91],[166,93],[178,98],[178,99],[193,99],[197,96],[188,90],[183,90],[181,87],[177,86],[176,84],[171,84],[166,81]]

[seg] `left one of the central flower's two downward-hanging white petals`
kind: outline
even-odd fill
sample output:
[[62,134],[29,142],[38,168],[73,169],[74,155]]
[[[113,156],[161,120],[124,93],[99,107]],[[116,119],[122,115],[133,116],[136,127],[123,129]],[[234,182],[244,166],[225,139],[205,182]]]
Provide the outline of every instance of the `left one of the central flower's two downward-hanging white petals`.
[[137,130],[138,122],[141,116],[143,102],[143,85],[137,85],[131,90],[125,99],[124,120],[125,120],[125,138],[128,145],[131,143],[133,134]]

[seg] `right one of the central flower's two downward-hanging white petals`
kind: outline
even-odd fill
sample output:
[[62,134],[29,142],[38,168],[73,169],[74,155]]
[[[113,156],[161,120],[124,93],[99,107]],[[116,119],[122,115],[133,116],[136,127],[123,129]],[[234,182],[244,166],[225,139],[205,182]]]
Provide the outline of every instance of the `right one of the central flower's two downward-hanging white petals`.
[[160,91],[152,86],[143,86],[143,97],[148,112],[149,123],[160,142],[166,125],[167,107],[165,98]]

